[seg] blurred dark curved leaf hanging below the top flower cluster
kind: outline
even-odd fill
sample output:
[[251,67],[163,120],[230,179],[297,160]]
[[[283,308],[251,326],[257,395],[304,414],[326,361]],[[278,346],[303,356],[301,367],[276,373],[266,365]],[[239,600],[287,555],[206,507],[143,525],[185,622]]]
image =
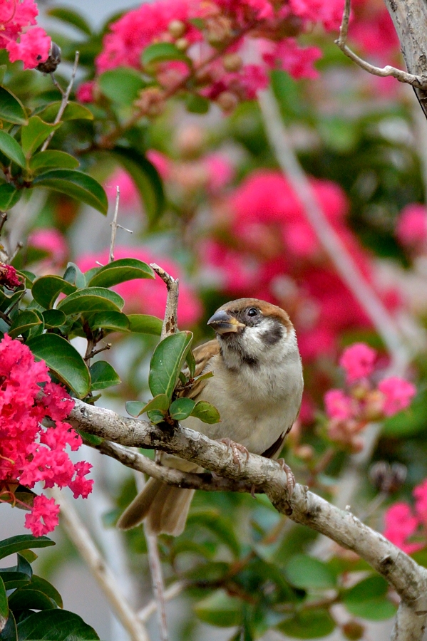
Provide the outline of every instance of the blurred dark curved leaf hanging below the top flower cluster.
[[148,221],[153,224],[165,209],[165,192],[158,170],[145,156],[127,147],[114,147],[109,155],[132,177],[144,204]]

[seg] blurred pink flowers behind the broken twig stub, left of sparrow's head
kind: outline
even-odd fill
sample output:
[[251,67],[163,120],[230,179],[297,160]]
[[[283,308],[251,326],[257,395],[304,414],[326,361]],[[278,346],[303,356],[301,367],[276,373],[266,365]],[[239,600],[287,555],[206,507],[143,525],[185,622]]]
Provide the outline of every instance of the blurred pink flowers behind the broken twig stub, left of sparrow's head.
[[[115,259],[135,258],[148,264],[157,263],[174,278],[180,277],[181,269],[178,264],[169,258],[154,255],[150,249],[116,246]],[[108,263],[108,249],[98,254],[84,254],[76,262],[82,271],[87,271],[97,266],[97,261],[103,265]],[[178,304],[178,321],[181,327],[194,325],[202,316],[202,303],[195,292],[181,280],[180,301]],[[166,288],[165,283],[156,276],[155,280],[138,278],[135,281],[120,283],[114,287],[120,296],[125,299],[126,313],[144,313],[163,318],[165,315]]]

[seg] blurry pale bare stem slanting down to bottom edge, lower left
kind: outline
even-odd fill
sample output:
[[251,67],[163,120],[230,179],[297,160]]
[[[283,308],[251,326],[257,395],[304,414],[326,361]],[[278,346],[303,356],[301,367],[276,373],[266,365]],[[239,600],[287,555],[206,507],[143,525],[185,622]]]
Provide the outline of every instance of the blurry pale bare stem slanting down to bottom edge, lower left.
[[98,585],[106,595],[123,627],[129,633],[130,638],[132,641],[149,641],[143,623],[130,608],[123,594],[120,593],[118,581],[107,566],[101,553],[99,553],[95,543],[93,543],[91,535],[81,521],[80,516],[78,516],[70,501],[63,496],[63,492],[53,488],[51,489],[51,494],[61,507],[61,521],[66,533],[88,564]]

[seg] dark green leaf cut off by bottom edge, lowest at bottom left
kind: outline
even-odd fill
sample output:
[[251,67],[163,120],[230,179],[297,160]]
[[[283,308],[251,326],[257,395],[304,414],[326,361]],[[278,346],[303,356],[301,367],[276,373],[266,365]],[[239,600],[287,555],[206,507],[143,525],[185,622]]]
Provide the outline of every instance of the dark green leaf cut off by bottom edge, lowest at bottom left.
[[67,610],[48,610],[30,615],[18,624],[19,641],[99,640],[93,627]]

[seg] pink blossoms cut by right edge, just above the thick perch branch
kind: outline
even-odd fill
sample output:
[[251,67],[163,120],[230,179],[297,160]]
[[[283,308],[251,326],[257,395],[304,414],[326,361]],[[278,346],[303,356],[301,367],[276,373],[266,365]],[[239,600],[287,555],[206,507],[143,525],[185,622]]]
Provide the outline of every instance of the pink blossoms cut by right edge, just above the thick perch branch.
[[387,509],[384,515],[384,536],[411,554],[427,545],[427,480],[413,489],[414,506],[404,501]]

